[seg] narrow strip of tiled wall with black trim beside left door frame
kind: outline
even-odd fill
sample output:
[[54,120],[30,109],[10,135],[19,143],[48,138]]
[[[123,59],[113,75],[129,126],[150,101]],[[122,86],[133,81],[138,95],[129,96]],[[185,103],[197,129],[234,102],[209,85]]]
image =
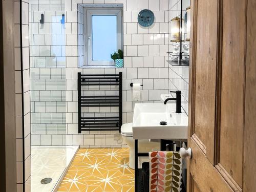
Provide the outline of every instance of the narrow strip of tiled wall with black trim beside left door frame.
[[[31,190],[30,153],[30,69],[29,69],[29,2],[13,1],[15,102],[16,102],[16,175],[17,191]],[[20,23],[20,4],[22,18]],[[20,31],[22,25],[22,31]],[[20,32],[22,38],[20,39]],[[37,32],[38,33],[38,32]],[[22,45],[22,47],[21,47]],[[20,52],[22,52],[22,57]],[[36,49],[33,54],[38,54]],[[23,59],[23,60],[21,60]],[[23,75],[23,76],[22,76]],[[23,77],[23,79],[22,79]],[[23,80],[23,81],[22,81]],[[22,84],[23,83],[23,84]],[[37,86],[42,86],[40,83]],[[23,97],[22,97],[23,95]],[[23,102],[22,102],[23,100]],[[24,152],[24,153],[23,153]],[[23,166],[25,164],[25,167]]]

